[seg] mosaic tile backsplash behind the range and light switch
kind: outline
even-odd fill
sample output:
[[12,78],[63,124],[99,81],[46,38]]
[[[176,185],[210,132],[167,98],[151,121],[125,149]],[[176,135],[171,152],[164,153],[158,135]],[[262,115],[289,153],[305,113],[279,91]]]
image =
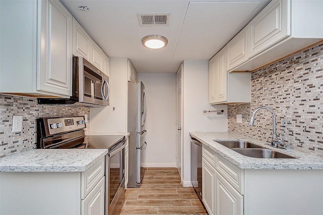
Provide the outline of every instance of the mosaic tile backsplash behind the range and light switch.
[[[89,108],[77,105],[38,105],[37,99],[0,94],[0,158],[36,148],[36,119],[43,117],[70,117],[87,114]],[[22,116],[22,131],[12,132],[13,116]]]

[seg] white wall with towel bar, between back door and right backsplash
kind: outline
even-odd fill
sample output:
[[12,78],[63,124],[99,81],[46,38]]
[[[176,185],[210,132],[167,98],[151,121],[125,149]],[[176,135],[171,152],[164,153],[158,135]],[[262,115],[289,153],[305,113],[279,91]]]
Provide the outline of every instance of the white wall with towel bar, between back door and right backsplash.
[[[203,113],[224,110],[223,115]],[[183,69],[183,176],[184,186],[191,186],[191,131],[227,131],[227,105],[208,103],[208,61],[184,61]]]

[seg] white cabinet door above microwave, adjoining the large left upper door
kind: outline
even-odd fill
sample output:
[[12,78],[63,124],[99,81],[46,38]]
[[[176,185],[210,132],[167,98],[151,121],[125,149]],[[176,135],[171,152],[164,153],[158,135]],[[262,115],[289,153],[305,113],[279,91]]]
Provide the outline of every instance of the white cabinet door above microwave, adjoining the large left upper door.
[[83,57],[91,62],[91,37],[82,26],[73,18],[73,55]]

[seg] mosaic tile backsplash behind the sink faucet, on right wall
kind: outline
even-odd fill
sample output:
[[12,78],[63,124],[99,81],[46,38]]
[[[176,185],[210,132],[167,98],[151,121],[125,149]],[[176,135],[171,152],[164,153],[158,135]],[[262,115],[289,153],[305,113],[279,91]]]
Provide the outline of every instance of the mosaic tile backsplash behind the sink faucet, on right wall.
[[248,126],[252,112],[268,106],[287,147],[323,156],[323,44],[253,72],[251,85],[251,103],[228,105],[228,131],[270,143],[270,112],[258,111],[254,126]]

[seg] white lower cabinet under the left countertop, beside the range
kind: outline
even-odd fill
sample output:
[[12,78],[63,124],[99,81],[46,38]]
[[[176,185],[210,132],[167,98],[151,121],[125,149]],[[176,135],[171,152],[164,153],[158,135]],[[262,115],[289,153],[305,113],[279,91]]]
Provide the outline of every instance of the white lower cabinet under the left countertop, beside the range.
[[85,172],[0,172],[0,214],[104,215],[104,160]]

